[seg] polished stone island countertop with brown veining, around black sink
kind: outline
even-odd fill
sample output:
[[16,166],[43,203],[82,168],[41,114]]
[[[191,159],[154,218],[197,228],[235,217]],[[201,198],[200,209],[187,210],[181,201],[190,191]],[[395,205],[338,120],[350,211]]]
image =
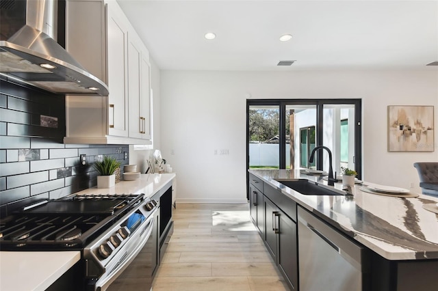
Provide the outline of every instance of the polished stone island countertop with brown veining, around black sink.
[[[350,189],[353,195],[302,195],[277,180],[306,178],[325,185],[327,182],[321,176],[287,169],[249,172],[387,260],[438,259],[438,214],[422,208],[436,204],[437,197],[376,195],[361,191],[361,184]],[[342,190],[342,183],[335,183],[334,188]]]

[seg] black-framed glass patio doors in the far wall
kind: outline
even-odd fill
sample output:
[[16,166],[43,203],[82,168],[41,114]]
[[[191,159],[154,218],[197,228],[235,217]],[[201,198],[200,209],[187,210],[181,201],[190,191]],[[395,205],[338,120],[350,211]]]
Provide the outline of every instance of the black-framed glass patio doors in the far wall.
[[355,169],[361,178],[361,100],[247,100],[247,168]]

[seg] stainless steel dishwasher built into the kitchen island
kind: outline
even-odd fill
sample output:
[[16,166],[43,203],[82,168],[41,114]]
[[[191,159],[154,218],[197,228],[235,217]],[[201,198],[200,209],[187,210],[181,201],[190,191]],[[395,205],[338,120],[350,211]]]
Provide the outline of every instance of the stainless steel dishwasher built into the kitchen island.
[[368,249],[298,207],[301,291],[369,290]]

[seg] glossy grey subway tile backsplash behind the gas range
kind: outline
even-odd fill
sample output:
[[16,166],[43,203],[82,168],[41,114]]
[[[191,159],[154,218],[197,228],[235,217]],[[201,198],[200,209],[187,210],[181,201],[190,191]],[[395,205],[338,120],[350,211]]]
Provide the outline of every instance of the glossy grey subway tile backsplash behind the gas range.
[[[64,144],[65,97],[0,79],[0,215],[96,186],[96,156],[122,163],[127,145]],[[79,163],[86,154],[87,165]]]

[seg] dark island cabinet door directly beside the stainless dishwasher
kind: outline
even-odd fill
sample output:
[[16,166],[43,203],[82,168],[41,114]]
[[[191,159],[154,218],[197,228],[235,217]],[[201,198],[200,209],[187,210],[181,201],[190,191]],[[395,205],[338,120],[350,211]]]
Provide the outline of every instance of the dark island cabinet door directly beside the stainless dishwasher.
[[292,290],[298,290],[298,248],[296,237],[296,223],[283,211],[277,210],[275,217],[278,225],[278,264],[283,277]]

